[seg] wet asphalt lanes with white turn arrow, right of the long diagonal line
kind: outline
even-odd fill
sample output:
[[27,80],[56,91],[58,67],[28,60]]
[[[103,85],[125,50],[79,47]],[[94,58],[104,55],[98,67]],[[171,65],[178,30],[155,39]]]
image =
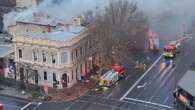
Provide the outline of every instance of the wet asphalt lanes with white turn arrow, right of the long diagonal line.
[[162,59],[128,91],[122,98],[125,101],[143,101],[146,103],[161,104],[168,107],[173,106],[172,92],[177,82],[195,61],[195,39],[185,42],[180,54],[176,58],[176,67],[167,68],[160,72]]

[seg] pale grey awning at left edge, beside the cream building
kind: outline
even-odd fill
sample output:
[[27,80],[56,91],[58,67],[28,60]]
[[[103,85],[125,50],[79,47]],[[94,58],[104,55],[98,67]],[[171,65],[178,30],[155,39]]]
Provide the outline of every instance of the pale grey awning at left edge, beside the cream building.
[[0,58],[6,57],[13,52],[14,52],[14,49],[13,49],[12,45],[7,45],[7,44],[0,45]]

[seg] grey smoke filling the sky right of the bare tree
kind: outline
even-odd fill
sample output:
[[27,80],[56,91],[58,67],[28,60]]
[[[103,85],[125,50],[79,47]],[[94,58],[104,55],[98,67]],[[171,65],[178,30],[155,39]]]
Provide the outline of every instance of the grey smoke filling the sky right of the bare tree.
[[181,36],[190,30],[195,15],[195,0],[136,0],[148,16],[150,28],[161,36]]

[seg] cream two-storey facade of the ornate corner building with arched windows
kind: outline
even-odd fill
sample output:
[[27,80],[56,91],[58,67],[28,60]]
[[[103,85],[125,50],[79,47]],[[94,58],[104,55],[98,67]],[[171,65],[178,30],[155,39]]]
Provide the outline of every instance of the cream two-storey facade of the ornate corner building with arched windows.
[[[51,40],[47,36],[39,38],[24,34],[22,29],[26,27],[34,29],[34,24],[28,25],[9,27],[13,35],[17,80],[24,79],[42,86],[47,84],[49,87],[57,83],[57,88],[62,89],[73,86],[92,69],[86,31],[69,40]],[[42,26],[31,31],[42,32],[48,29],[48,26]]]

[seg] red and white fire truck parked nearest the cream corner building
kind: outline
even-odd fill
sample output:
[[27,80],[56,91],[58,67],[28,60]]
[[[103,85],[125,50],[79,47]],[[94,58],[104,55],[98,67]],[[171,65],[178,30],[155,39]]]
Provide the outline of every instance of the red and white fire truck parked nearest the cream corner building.
[[124,77],[124,73],[124,68],[119,64],[115,64],[111,70],[100,77],[99,86],[113,86],[117,81]]

